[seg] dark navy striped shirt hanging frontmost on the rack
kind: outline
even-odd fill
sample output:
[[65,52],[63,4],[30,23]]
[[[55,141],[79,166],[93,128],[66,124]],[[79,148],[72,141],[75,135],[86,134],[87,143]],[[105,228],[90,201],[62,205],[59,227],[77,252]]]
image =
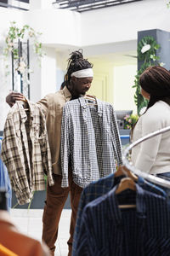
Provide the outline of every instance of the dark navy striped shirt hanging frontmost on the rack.
[[167,200],[138,184],[136,189],[124,191],[125,198],[135,194],[136,208],[118,207],[116,187],[84,208],[75,255],[169,255]]

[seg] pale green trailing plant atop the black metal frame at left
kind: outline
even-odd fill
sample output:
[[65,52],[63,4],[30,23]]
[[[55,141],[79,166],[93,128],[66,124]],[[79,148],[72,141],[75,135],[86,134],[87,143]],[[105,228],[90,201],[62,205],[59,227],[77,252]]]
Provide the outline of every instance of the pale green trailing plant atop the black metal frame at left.
[[[42,43],[39,42],[39,37],[42,33],[36,32],[31,26],[25,25],[23,27],[16,26],[16,22],[10,22],[10,26],[8,29],[7,36],[5,38],[5,47],[3,49],[4,61],[6,62],[6,75],[8,72],[8,56],[13,53],[14,60],[19,59],[19,49],[18,42],[27,42],[29,40],[33,44],[33,50],[37,55],[37,61],[40,64],[40,60],[43,55],[45,55],[42,50]],[[16,67],[16,71],[21,73],[23,77],[26,77],[26,73],[31,73],[31,69],[29,69],[25,63],[25,61],[20,58],[18,61],[18,67]]]

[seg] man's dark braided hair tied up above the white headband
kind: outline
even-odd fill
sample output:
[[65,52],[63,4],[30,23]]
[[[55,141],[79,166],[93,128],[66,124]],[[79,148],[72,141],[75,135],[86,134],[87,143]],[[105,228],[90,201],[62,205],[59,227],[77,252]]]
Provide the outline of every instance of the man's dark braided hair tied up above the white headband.
[[71,53],[71,57],[68,59],[67,73],[65,74],[65,84],[68,85],[71,82],[71,73],[78,70],[92,68],[93,64],[83,58],[82,49],[78,49]]

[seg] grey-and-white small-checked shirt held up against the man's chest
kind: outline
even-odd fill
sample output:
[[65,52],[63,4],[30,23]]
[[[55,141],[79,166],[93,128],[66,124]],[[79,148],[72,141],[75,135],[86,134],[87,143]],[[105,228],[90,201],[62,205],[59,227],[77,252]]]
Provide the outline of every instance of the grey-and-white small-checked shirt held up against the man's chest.
[[111,104],[97,99],[97,109],[80,97],[66,102],[61,125],[62,187],[68,187],[68,166],[84,188],[94,180],[116,171],[122,164],[122,146]]

